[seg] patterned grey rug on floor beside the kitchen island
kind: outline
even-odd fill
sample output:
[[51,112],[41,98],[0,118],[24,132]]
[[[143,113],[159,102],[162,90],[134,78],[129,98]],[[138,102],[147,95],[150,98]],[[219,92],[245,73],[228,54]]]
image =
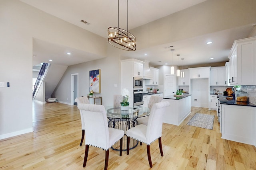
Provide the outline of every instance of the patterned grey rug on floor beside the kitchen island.
[[202,127],[204,129],[213,129],[213,121],[214,115],[206,115],[202,113],[196,113],[187,125],[195,126],[195,127]]

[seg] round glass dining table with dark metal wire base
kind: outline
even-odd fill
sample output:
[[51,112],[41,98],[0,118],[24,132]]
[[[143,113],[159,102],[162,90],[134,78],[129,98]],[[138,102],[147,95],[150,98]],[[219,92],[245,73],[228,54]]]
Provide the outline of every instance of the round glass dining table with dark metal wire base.
[[[129,107],[128,110],[121,110],[120,107],[107,106],[105,107],[108,121],[108,127],[121,129],[124,131],[123,137],[123,150],[126,150],[126,130],[138,125],[136,120],[139,117],[145,117],[150,115],[150,109],[148,107],[134,106]],[[138,141],[130,139],[130,149],[135,148],[138,145]],[[119,150],[120,143],[116,143],[112,146],[112,149]]]

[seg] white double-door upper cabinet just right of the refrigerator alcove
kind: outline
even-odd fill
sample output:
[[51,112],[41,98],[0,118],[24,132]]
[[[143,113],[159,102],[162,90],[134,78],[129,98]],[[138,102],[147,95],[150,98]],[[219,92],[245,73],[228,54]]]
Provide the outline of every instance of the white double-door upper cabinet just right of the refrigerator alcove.
[[225,86],[225,67],[212,67],[210,70],[210,86]]

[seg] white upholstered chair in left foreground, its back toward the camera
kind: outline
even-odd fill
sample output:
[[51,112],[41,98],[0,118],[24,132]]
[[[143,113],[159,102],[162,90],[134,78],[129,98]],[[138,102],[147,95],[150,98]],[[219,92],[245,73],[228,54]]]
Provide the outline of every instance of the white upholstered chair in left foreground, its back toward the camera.
[[103,105],[78,104],[85,123],[85,153],[84,164],[86,166],[89,145],[105,150],[105,168],[108,168],[109,149],[120,140],[120,156],[122,156],[122,137],[124,131],[108,127],[106,110]]

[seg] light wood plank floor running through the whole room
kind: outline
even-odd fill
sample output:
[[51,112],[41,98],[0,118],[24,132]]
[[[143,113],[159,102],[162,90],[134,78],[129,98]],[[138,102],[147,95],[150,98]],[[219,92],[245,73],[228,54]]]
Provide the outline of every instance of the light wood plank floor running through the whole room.
[[[195,113],[215,115],[214,129],[186,125]],[[81,122],[76,106],[33,103],[33,133],[0,140],[0,169],[79,170],[85,146],[80,144]],[[152,170],[256,170],[256,148],[221,139],[216,111],[192,107],[179,126],[163,124],[160,155],[158,141],[152,143]],[[89,147],[87,170],[104,168],[105,151]],[[126,155],[110,149],[109,170],[148,170],[146,145]]]

